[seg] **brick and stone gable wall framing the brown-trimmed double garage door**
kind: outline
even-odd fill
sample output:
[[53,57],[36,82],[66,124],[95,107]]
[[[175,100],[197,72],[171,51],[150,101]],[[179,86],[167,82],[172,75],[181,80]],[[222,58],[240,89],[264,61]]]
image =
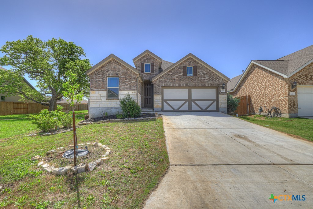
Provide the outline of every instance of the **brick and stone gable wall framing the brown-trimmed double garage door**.
[[[197,65],[197,76],[183,76],[183,66],[194,66]],[[218,76],[216,73],[208,69],[206,66],[199,63],[197,60],[192,57],[188,57],[182,63],[174,67],[172,70],[168,71],[164,75],[157,78],[153,81],[154,84],[154,110],[161,111],[162,99],[161,99],[161,90],[162,87],[166,86],[177,86],[177,87],[192,87],[192,86],[203,86],[218,87],[219,98],[222,98],[220,101],[224,101],[223,98],[226,98],[226,93],[221,93],[223,83],[226,85],[227,81],[222,77]],[[223,96],[225,95],[225,96]],[[227,106],[227,104],[226,104]],[[219,111],[227,112],[227,107],[225,102],[219,103]]]

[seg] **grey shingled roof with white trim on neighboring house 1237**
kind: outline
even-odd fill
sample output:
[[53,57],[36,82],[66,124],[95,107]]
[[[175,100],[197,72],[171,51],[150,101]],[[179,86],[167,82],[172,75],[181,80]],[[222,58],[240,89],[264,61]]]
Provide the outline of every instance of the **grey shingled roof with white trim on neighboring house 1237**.
[[248,67],[244,71],[237,85],[232,91],[236,91],[244,76],[251,69],[252,65],[259,65],[269,71],[272,71],[284,78],[290,78],[295,73],[302,70],[305,66],[313,62],[313,45],[302,50],[296,51],[290,55],[286,55],[278,60],[251,60]]

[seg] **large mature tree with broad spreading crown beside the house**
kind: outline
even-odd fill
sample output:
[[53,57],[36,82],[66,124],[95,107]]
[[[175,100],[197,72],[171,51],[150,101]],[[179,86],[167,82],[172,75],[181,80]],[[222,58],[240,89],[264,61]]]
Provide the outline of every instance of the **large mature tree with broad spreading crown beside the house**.
[[[89,94],[89,78],[85,72],[91,66],[88,59],[82,59],[84,50],[73,42],[60,38],[42,41],[30,35],[24,40],[6,42],[0,51],[4,53],[0,66],[12,66],[10,71],[0,71],[0,93],[20,95],[25,100],[49,106],[51,111],[64,96],[62,84],[69,79],[66,74],[69,63],[79,61],[80,67],[71,70],[78,76],[80,93]],[[37,82],[39,91],[22,82],[26,74]]]

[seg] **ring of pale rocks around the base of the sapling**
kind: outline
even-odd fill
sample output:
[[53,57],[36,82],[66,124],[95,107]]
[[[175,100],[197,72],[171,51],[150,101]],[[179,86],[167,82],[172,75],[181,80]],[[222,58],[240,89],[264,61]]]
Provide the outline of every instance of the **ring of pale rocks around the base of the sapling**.
[[[69,170],[71,170],[74,174],[78,174],[78,173],[82,173],[82,172],[86,172],[86,171],[92,171],[95,169],[95,167],[101,163],[103,163],[104,161],[109,159],[109,155],[111,153],[111,149],[108,148],[105,145],[102,145],[101,143],[97,143],[97,142],[89,142],[86,144],[92,144],[93,146],[98,146],[102,149],[105,150],[105,154],[101,156],[101,158],[92,161],[90,163],[80,163],[79,165],[76,166],[65,166],[65,167],[59,167],[59,168],[55,168],[54,165],[50,165],[49,163],[45,163],[44,161],[40,161],[37,166],[38,167],[42,167],[44,168],[44,171],[47,171],[48,173],[53,173],[56,175],[65,175],[68,173]],[[77,145],[85,145],[85,143],[83,144],[77,144]],[[74,145],[69,145],[68,148],[73,148]],[[65,149],[64,147],[60,147],[57,149]],[[52,149],[50,151],[47,152],[47,154],[51,154],[56,152],[56,149]],[[31,160],[33,161],[39,161],[41,159],[41,157],[39,155],[36,155],[34,157],[31,158]]]

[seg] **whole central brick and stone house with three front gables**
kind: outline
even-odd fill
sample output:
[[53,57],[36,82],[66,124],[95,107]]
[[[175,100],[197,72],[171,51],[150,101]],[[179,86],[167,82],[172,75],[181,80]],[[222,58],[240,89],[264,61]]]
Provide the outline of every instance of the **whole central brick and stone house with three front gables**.
[[111,54],[86,72],[90,118],[121,112],[119,100],[126,94],[155,112],[227,112],[229,78],[198,57],[188,54],[172,63],[146,50],[133,62],[135,67]]

